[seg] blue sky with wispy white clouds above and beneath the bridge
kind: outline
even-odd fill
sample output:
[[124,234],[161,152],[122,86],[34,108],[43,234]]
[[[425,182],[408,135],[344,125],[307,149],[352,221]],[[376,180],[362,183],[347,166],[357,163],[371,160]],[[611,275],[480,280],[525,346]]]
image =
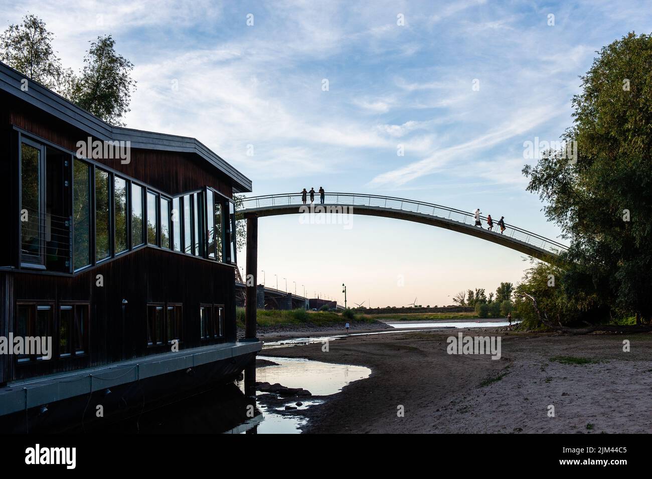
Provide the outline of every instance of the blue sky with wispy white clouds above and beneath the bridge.
[[[111,33],[136,66],[126,124],[200,139],[250,177],[255,194],[324,186],[480,207],[556,237],[525,191],[523,143],[559,139],[595,51],[650,33],[649,7],[28,0],[0,3],[0,19],[5,27],[38,14],[74,68],[88,40]],[[357,216],[349,230],[264,218],[259,240],[268,285],[276,274],[281,289],[286,278],[288,289],[341,299],[345,282],[350,300],[372,306],[451,304],[461,289],[518,281],[528,265],[489,242],[385,218]]]

